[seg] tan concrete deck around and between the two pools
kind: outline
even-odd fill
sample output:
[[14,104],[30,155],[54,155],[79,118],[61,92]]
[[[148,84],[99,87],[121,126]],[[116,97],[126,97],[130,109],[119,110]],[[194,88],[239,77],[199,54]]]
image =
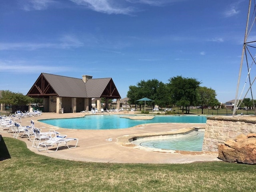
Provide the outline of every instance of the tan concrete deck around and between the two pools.
[[[115,114],[115,113],[113,113]],[[117,113],[121,114],[121,113]],[[132,114],[129,112],[129,114]],[[220,161],[218,152],[155,152],[141,150],[130,145],[128,138],[136,135],[152,135],[166,132],[176,132],[185,128],[204,128],[206,124],[190,123],[157,123],[142,124],[132,128],[109,129],[109,130],[78,130],[66,129],[38,122],[38,119],[47,118],[72,118],[84,116],[84,113],[43,113],[42,116],[22,118],[22,126],[30,125],[30,119],[34,120],[35,127],[42,129],[42,132],[54,129],[70,138],[78,138],[78,147],[72,149],[58,150],[57,152],[39,152],[32,147],[32,142],[27,138],[18,138],[26,142],[27,147],[36,154],[60,158],[66,160],[84,162],[105,162],[105,163],[191,163],[203,161]],[[3,137],[12,137],[10,133],[1,133]]]

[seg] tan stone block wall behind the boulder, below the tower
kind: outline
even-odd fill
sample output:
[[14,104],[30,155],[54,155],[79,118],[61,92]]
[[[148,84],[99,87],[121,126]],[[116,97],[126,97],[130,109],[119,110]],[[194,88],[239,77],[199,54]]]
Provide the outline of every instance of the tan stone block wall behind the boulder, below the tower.
[[234,139],[240,134],[256,133],[255,116],[211,116],[207,117],[203,151],[218,151],[218,145]]

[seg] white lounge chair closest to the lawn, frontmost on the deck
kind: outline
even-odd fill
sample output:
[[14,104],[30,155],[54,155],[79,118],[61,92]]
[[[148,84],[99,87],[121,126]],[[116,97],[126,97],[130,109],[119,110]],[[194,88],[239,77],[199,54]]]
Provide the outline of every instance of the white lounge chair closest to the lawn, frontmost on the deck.
[[[68,144],[68,142],[74,141],[73,145]],[[57,145],[56,148],[54,145]],[[68,147],[68,149],[75,148],[78,144],[78,138],[66,138],[66,135],[58,135],[56,137],[50,138],[44,142],[35,143],[38,151],[46,150],[48,153],[56,152],[59,147]]]

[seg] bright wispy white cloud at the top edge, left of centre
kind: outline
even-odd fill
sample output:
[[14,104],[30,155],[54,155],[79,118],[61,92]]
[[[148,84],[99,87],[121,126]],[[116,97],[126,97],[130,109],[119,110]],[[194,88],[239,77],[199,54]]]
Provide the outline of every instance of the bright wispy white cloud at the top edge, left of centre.
[[118,7],[117,3],[111,3],[110,0],[70,0],[78,5],[86,6],[96,12],[107,14],[130,14],[134,12],[132,7]]

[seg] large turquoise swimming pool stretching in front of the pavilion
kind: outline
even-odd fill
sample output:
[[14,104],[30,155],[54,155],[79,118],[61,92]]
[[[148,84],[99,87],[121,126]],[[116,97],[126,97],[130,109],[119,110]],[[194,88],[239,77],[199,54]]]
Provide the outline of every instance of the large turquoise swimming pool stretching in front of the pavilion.
[[[206,123],[206,116],[155,116],[151,120],[120,118],[124,115],[86,115],[78,118],[44,119],[40,122],[69,129],[120,129],[146,123]],[[127,115],[125,115],[127,116]]]

